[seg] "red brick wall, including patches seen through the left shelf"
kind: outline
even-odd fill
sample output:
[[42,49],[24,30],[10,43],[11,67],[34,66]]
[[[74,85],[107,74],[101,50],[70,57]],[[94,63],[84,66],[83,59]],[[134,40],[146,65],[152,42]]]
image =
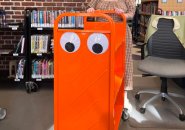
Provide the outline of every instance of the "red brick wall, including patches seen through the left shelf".
[[[83,11],[90,0],[0,0],[0,9],[6,11],[7,22],[23,22],[24,10],[36,7],[40,10]],[[0,30],[0,49],[15,48],[22,32]],[[8,69],[8,59],[0,57],[0,70]],[[5,65],[6,64],[6,65]]]

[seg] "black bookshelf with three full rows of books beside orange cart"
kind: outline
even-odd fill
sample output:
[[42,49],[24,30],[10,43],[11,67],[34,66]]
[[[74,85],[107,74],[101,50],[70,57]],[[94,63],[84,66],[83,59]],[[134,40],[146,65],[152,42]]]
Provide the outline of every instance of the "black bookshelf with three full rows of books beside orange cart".
[[[53,27],[54,19],[64,13],[62,10],[33,10],[30,13],[29,39],[31,80],[49,81],[54,78],[53,72]],[[74,12],[73,10],[71,12]],[[66,16],[58,24],[62,29],[83,29],[84,18]]]

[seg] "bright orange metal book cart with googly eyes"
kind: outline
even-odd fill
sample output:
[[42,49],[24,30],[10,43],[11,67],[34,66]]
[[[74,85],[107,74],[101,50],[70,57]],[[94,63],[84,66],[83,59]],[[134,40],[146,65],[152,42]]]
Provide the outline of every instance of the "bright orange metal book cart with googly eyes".
[[[106,13],[63,13],[54,26],[55,130],[117,130],[123,109],[126,18]],[[83,17],[83,29],[59,28],[66,16]],[[101,17],[106,22],[89,22]]]

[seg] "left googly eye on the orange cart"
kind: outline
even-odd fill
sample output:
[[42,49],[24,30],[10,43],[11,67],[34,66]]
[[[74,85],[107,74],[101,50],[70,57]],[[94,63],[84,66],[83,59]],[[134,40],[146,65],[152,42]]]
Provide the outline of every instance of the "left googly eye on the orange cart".
[[80,38],[76,33],[66,32],[60,38],[60,45],[66,52],[74,53],[80,47]]

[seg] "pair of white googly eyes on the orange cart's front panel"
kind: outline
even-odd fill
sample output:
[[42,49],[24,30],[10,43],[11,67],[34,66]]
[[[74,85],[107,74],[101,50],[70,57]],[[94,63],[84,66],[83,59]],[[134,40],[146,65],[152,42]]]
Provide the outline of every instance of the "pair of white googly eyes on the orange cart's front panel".
[[[66,32],[60,39],[62,48],[69,53],[76,52],[80,47],[80,38],[76,33]],[[93,33],[87,40],[87,47],[94,54],[103,54],[107,51],[109,41],[102,33]]]

